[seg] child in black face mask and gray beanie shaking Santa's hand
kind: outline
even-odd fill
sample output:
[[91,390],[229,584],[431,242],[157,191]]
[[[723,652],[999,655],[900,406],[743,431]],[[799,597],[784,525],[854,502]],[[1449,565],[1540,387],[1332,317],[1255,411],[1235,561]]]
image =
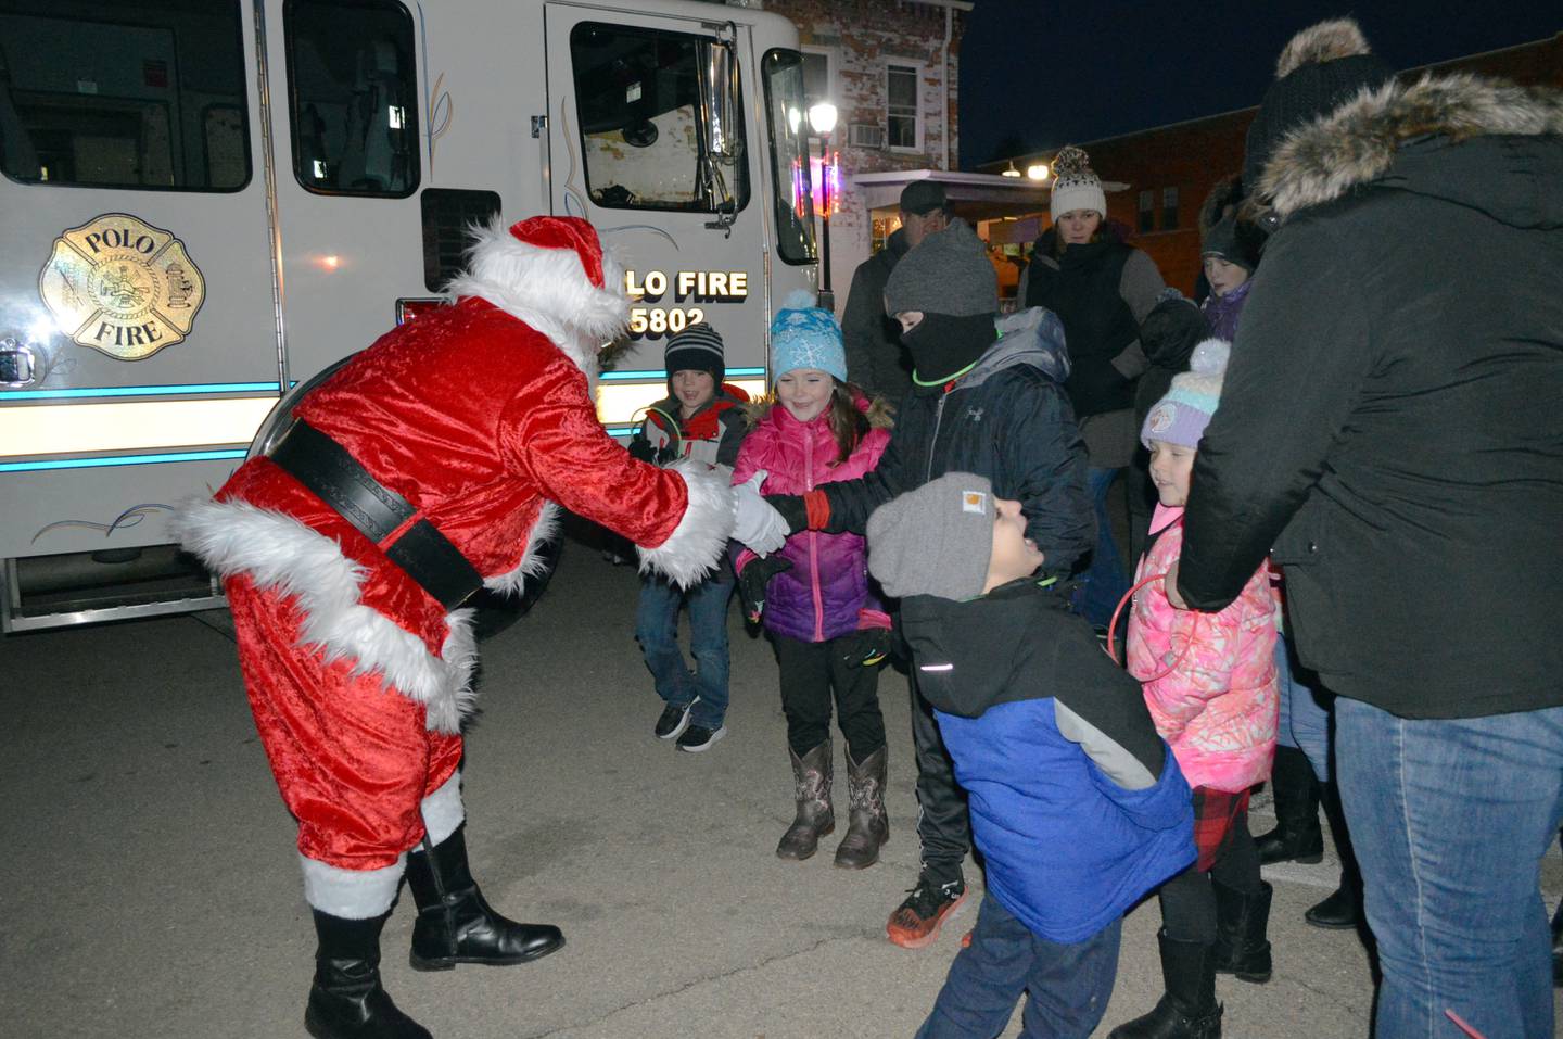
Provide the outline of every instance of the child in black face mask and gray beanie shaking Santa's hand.
[[[857,531],[896,495],[946,472],[993,481],[1025,514],[1025,536],[1068,573],[1093,544],[1085,492],[1085,447],[1063,394],[1069,377],[1063,327],[1033,308],[999,319],[999,281],[977,234],[963,220],[908,252],[885,286],[885,309],[911,350],[913,389],[878,467],[861,480],[802,497],[767,498],[791,531]],[[961,861],[971,848],[966,800],[955,784],[938,725],[913,680],[913,742],[922,811],[922,872],[891,914],[897,945],[928,945],[966,897]]]

